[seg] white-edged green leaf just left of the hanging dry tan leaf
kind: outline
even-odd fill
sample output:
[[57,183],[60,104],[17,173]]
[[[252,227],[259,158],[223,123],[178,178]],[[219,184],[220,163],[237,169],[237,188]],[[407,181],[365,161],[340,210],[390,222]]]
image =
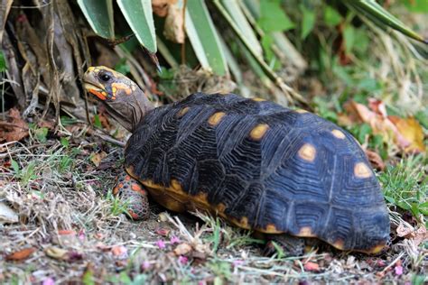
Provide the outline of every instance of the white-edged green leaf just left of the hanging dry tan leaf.
[[150,0],[117,0],[126,22],[135,32],[135,36],[148,51],[155,53],[156,34],[154,33],[154,17]]

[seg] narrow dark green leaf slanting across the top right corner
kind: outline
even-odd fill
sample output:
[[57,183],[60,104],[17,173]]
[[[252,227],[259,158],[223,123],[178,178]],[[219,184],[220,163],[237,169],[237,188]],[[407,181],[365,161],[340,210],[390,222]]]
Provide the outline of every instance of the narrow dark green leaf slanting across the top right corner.
[[404,33],[406,36],[414,40],[428,43],[427,39],[423,39],[423,36],[405,26],[404,23],[395,18],[394,15],[388,13],[374,0],[346,0],[346,3],[355,8],[359,13],[367,14],[368,17],[376,19],[377,22],[386,24],[387,26],[395,29],[396,31]]

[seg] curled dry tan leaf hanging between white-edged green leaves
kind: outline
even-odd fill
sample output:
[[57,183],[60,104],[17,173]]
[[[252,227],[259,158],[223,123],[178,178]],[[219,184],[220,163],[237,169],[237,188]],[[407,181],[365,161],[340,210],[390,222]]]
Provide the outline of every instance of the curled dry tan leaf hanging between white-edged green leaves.
[[166,39],[177,43],[184,43],[186,33],[184,32],[182,9],[178,5],[170,5],[168,15],[163,26],[163,35]]

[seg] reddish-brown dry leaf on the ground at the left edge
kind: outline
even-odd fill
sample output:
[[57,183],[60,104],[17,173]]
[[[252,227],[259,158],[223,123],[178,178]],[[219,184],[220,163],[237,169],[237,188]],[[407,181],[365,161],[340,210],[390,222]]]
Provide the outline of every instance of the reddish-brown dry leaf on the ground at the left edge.
[[0,142],[20,141],[28,135],[28,124],[23,121],[19,110],[9,110],[6,121],[0,121]]

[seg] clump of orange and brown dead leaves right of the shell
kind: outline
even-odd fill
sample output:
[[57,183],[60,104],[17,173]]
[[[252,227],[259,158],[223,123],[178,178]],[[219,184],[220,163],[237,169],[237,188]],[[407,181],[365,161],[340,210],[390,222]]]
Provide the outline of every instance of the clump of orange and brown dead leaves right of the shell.
[[425,152],[423,129],[414,117],[387,115],[385,103],[374,98],[368,100],[368,106],[350,101],[345,109],[347,115],[340,115],[340,124],[366,123],[374,134],[382,135],[384,141],[394,143],[402,152]]

